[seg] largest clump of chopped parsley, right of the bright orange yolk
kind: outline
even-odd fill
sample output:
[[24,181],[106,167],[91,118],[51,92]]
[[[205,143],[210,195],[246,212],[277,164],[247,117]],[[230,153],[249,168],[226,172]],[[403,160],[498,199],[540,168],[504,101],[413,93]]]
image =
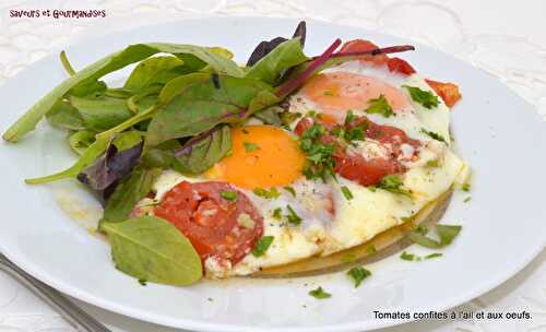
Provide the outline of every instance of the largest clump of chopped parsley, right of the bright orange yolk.
[[327,180],[327,176],[335,178],[333,153],[335,146],[333,144],[324,144],[320,138],[327,132],[324,126],[313,123],[299,138],[299,150],[307,156],[307,165],[304,167],[304,175],[307,179]]

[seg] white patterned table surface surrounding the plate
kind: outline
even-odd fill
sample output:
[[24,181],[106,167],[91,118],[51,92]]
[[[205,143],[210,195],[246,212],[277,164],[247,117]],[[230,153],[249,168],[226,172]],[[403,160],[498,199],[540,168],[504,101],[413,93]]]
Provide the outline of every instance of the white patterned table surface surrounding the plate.
[[[98,9],[105,19],[13,19],[12,9]],[[288,16],[378,29],[451,54],[491,74],[546,120],[546,1],[498,0],[96,0],[0,1],[0,83],[82,38],[207,15]],[[546,129],[546,127],[545,127]],[[175,332],[78,301],[112,331]],[[546,250],[498,288],[458,309],[521,311],[527,321],[420,321],[382,332],[546,331]],[[33,294],[0,273],[0,332],[73,332]]]

